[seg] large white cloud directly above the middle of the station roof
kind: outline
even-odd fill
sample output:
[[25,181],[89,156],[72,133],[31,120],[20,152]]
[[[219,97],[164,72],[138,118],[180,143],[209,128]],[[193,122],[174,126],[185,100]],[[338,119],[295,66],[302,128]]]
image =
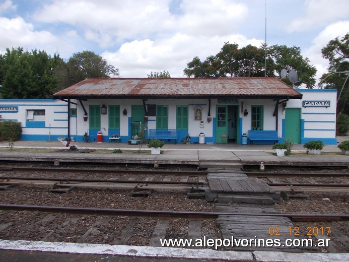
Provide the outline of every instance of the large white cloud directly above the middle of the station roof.
[[102,53],[110,64],[119,69],[120,77],[147,77],[153,72],[168,71],[171,77],[185,77],[183,70],[195,56],[201,60],[217,54],[225,42],[239,46],[252,44],[259,46],[262,40],[247,39],[243,35],[192,37],[175,34],[167,39],[134,40],[126,42],[116,52]]

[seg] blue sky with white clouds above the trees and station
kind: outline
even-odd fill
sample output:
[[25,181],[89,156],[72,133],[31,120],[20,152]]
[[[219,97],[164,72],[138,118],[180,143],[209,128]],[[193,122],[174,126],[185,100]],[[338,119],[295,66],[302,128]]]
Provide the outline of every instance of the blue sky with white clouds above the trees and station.
[[321,48],[349,32],[348,10],[347,0],[0,0],[0,52],[20,46],[67,60],[89,50],[120,77],[184,77],[189,61],[225,42],[260,46],[266,17],[267,44],[300,47],[320,77]]

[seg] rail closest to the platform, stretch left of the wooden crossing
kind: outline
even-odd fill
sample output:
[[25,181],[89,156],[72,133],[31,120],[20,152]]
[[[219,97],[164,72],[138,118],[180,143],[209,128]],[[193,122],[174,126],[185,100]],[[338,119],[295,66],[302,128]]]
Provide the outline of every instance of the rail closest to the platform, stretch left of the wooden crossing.
[[55,167],[0,167],[0,171],[48,171],[48,172],[85,172],[85,173],[115,173],[115,174],[159,174],[205,176],[207,171],[174,171],[174,170],[129,170],[129,169],[84,169],[84,168],[55,168]]

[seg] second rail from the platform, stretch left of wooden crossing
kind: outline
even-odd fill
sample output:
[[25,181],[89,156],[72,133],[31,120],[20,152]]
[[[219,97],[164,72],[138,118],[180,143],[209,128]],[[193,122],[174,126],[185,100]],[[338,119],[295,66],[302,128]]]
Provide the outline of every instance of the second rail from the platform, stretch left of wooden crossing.
[[89,182],[89,181],[74,181],[66,180],[62,181],[59,179],[5,179],[0,180],[0,184],[27,184],[27,185],[43,185],[43,186],[59,186],[59,187],[95,187],[95,188],[142,188],[142,189],[173,189],[173,190],[186,190],[186,189],[200,189],[200,190],[209,190],[210,188],[204,186],[203,184],[167,184],[166,182],[161,181],[161,183],[148,184],[147,182],[133,182],[128,181],[124,183],[118,183],[117,180],[109,180],[108,182]]

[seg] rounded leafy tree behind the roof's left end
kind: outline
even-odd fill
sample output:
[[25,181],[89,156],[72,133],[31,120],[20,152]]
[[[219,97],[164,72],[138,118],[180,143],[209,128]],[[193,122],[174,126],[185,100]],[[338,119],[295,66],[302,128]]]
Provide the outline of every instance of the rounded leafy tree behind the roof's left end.
[[74,85],[86,78],[118,76],[119,70],[93,51],[74,53],[67,62],[70,68],[70,83]]

